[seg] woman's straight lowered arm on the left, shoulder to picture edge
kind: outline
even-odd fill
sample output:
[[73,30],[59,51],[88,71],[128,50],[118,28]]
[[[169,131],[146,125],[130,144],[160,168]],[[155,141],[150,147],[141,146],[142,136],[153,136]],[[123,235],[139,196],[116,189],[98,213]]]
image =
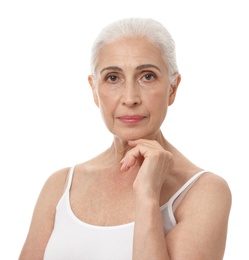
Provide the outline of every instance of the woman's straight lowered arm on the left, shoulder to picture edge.
[[56,205],[63,194],[68,169],[51,175],[44,184],[32,216],[19,260],[42,260],[54,227]]

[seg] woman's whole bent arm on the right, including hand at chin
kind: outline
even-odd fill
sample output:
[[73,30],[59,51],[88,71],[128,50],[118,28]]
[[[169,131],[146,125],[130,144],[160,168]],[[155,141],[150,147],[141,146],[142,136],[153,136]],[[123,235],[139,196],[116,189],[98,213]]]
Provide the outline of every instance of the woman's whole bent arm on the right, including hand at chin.
[[179,205],[175,212],[177,225],[165,237],[158,190],[173,165],[172,156],[155,142],[148,145],[138,140],[132,146],[122,161],[123,169],[141,161],[139,156],[144,158],[134,182],[133,259],[222,259],[231,206],[230,190],[224,180],[211,173],[202,176]]

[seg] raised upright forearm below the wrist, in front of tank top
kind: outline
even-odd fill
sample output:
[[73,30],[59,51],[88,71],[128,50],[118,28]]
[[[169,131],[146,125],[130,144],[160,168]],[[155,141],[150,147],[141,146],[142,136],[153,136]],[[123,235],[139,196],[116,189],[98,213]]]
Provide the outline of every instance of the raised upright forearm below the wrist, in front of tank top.
[[133,260],[170,260],[159,204],[153,199],[137,201]]

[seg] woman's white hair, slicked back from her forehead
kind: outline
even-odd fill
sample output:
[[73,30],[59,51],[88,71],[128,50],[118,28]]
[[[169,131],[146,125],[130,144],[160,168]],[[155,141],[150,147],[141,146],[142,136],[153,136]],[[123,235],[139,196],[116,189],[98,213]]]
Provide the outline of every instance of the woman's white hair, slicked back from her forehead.
[[145,37],[157,46],[168,68],[171,84],[175,83],[178,67],[176,63],[175,42],[168,30],[151,18],[127,18],[113,22],[102,29],[92,46],[91,73],[95,73],[100,50],[107,44],[125,37]]

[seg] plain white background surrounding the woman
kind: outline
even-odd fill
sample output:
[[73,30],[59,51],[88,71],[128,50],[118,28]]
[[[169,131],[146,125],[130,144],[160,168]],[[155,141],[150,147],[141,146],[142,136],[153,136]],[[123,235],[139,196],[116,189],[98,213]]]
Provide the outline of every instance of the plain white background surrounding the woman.
[[38,194],[54,171],[111,144],[88,86],[89,53],[113,20],[162,22],[182,82],[162,130],[233,193],[225,260],[249,259],[246,0],[0,3],[0,259],[17,259]]

